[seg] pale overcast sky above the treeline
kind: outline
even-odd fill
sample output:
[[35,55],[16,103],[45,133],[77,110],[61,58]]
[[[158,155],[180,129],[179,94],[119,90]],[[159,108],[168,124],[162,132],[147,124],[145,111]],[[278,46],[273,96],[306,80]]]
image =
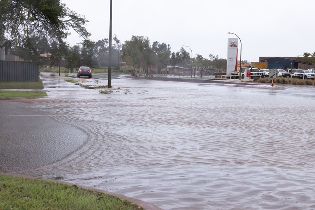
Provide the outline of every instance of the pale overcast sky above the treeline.
[[[91,40],[109,37],[110,0],[62,2],[89,20]],[[258,62],[261,56],[313,53],[314,9],[315,0],[113,0],[112,34],[121,43],[145,36],[169,44],[172,52],[187,45],[194,57],[226,58],[232,32],[241,38],[242,60]],[[67,41],[74,45],[82,38],[72,32]]]

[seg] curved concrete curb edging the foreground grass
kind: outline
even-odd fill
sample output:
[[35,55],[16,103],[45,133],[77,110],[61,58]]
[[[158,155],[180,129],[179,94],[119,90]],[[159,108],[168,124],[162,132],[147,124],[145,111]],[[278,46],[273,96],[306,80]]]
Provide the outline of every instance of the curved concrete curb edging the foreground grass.
[[95,189],[93,187],[87,187],[87,186],[83,186],[83,185],[73,184],[73,183],[69,183],[69,182],[66,182],[66,181],[51,180],[51,179],[46,179],[46,178],[38,178],[38,177],[19,175],[19,174],[0,173],[0,175],[12,176],[12,177],[21,177],[21,178],[26,178],[26,179],[30,179],[30,180],[50,181],[50,182],[66,184],[66,185],[70,185],[70,186],[76,186],[76,187],[80,187],[82,189],[94,190],[94,191],[97,191],[97,192],[106,193],[106,194],[109,194],[109,195],[113,195],[113,196],[125,199],[125,200],[130,201],[130,202],[132,202],[134,204],[137,204],[138,206],[144,208],[145,210],[163,210],[163,209],[161,209],[161,208],[159,208],[157,206],[154,206],[153,204],[147,203],[145,201],[142,201],[142,200],[139,200],[139,199],[136,199],[136,198],[127,197],[127,196],[124,196],[124,195],[116,194],[116,193],[113,193],[113,192],[108,192],[108,191],[105,191],[105,190]]

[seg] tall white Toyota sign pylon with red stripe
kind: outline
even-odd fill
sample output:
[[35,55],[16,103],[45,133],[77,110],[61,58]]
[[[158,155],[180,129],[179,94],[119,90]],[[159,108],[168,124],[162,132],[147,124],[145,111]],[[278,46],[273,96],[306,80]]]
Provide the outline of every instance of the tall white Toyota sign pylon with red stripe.
[[227,40],[227,68],[226,76],[231,76],[231,71],[237,71],[237,49],[238,39],[228,38]]

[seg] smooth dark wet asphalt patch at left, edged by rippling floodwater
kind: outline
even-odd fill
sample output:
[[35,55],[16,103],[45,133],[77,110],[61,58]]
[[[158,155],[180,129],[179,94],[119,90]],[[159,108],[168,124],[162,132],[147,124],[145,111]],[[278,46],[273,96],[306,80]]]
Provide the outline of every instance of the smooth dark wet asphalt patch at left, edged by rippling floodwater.
[[86,134],[23,102],[0,100],[0,173],[32,170],[63,159],[86,141]]

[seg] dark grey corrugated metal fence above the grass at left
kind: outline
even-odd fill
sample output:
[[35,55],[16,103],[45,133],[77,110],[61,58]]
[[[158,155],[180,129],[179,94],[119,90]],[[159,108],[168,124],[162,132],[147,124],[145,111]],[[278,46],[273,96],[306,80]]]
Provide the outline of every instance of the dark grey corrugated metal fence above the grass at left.
[[0,81],[38,82],[39,68],[34,62],[0,61]]

